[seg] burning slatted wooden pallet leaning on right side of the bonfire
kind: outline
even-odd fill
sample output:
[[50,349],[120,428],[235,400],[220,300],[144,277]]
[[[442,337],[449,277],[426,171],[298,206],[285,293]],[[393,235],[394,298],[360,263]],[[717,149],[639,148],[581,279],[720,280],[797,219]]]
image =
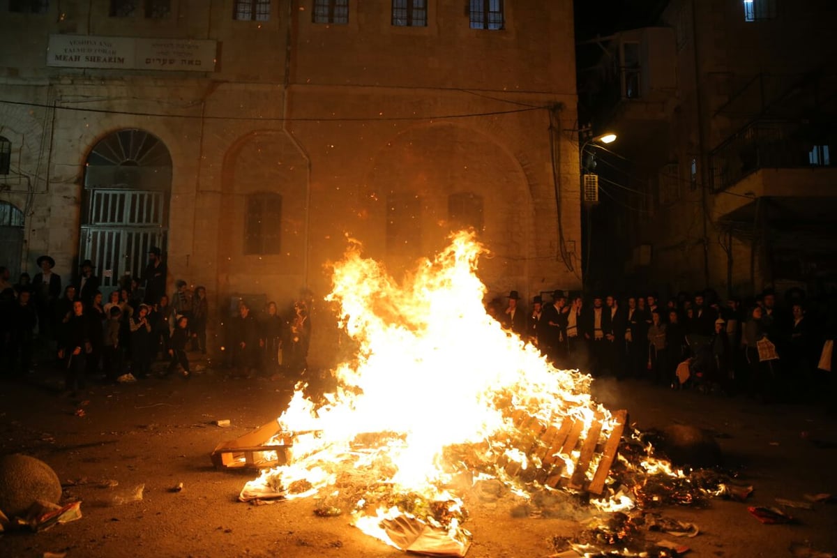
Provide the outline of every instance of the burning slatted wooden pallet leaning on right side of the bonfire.
[[[511,416],[512,422],[521,430],[521,433],[531,433],[535,438],[535,443],[530,448],[519,449],[531,458],[537,458],[541,465],[536,471],[525,473],[521,463],[509,458],[503,458],[499,464],[512,477],[525,476],[526,479],[537,480],[553,489],[565,488],[594,495],[602,494],[610,467],[619,449],[619,440],[622,438],[628,412],[622,410],[614,413],[616,422],[614,429],[608,438],[600,443],[602,418],[600,414],[594,417],[593,423],[582,439],[584,423],[578,418],[564,417],[560,423],[546,426],[536,418],[526,415],[525,412],[516,411]],[[567,463],[561,456],[569,457],[573,451],[578,451],[578,457],[573,461],[573,471],[570,473],[567,470]],[[590,471],[591,463],[595,461],[597,453],[600,456],[598,463],[595,470]]]

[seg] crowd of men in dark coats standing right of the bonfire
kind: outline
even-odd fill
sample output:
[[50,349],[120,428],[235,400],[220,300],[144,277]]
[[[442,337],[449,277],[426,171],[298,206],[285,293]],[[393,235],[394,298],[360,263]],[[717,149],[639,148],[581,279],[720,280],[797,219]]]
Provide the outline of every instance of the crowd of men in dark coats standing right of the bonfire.
[[562,290],[550,298],[537,295],[526,309],[511,291],[505,308],[491,311],[559,368],[771,400],[833,384],[834,315],[819,307],[809,315],[798,290],[782,304],[770,289],[747,301],[721,301],[712,290],[665,302]]

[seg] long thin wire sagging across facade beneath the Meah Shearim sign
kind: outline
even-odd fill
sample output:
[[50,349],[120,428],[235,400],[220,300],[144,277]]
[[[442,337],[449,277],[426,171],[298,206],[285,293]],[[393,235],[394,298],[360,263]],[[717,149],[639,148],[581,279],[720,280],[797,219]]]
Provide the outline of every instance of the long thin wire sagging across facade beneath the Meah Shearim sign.
[[44,103],[34,103],[34,102],[27,102],[27,101],[13,101],[13,100],[4,100],[0,99],[0,103],[6,105],[21,105],[21,106],[29,106],[29,107],[38,107],[43,109],[51,109],[54,108],[55,110],[73,110],[76,112],[92,112],[101,115],[127,115],[127,116],[151,116],[155,118],[182,118],[187,120],[246,120],[246,121],[258,121],[258,122],[323,122],[323,121],[331,121],[331,122],[385,122],[385,121],[395,121],[395,120],[452,120],[458,118],[475,118],[480,116],[496,116],[496,115],[511,115],[521,112],[531,112],[532,110],[546,110],[548,107],[540,106],[534,108],[524,108],[524,109],[516,109],[516,110],[494,110],[490,112],[475,112],[475,113],[466,113],[461,115],[434,115],[434,116],[380,116],[378,118],[372,117],[291,117],[291,118],[281,118],[275,116],[268,116],[264,118],[254,117],[254,116],[213,116],[213,115],[169,115],[165,113],[154,113],[154,112],[140,112],[140,111],[132,111],[132,110],[110,110],[110,109],[90,109],[90,108],[81,108],[81,107],[73,107],[73,106],[55,106],[47,105]]

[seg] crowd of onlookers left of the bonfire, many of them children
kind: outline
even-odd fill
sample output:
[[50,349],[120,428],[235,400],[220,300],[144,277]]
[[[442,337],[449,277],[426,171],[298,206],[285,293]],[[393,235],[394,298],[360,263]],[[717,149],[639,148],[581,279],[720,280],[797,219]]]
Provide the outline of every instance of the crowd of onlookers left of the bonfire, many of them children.
[[[140,277],[127,275],[102,289],[90,260],[78,277],[62,284],[48,255],[37,260],[39,274],[21,274],[12,284],[0,267],[0,371],[25,376],[38,363],[64,371],[68,392],[87,381],[136,381],[168,361],[162,376],[189,377],[188,352],[207,354],[208,299],[203,286],[189,289],[178,279],[167,294],[167,266],[159,248],[150,248]],[[106,296],[103,291],[107,292]],[[300,372],[306,368],[311,320],[306,303],[289,312],[271,302],[257,319],[241,301],[228,320],[225,346],[234,373]],[[226,347],[224,347],[226,348]]]

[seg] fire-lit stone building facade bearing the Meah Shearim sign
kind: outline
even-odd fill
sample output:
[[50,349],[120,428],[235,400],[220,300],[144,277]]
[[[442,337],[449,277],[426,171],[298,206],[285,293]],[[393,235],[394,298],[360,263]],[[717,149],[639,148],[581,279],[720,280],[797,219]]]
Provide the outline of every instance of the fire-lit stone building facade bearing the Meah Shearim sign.
[[465,7],[3,0],[7,267],[107,290],[160,245],[223,320],[320,300],[347,238],[397,272],[473,226],[490,297],[580,288],[572,3]]

